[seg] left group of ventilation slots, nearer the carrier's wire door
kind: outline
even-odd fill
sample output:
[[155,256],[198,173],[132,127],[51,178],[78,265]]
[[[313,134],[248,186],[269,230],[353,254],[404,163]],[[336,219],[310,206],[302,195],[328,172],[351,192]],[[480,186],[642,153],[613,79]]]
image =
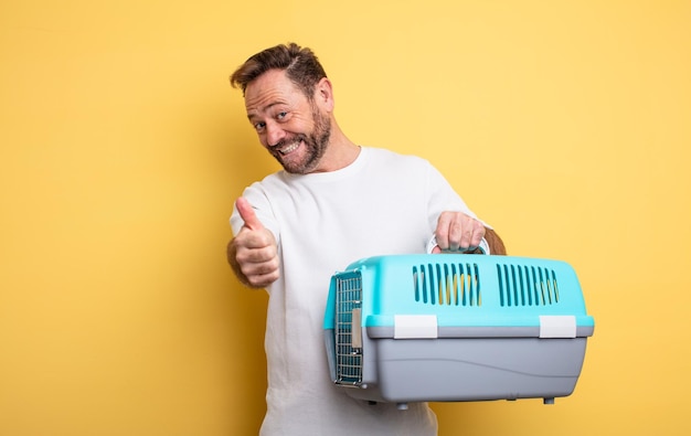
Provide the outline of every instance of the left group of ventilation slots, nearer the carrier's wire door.
[[413,267],[415,301],[440,306],[480,306],[476,264],[427,264]]

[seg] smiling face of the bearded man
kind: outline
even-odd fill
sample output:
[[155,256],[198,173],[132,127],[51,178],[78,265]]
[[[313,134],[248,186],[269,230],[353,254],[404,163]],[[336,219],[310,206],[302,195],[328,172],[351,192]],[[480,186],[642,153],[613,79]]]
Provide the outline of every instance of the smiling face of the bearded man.
[[318,171],[329,145],[330,118],[284,71],[270,70],[251,82],[245,108],[259,142],[287,172]]

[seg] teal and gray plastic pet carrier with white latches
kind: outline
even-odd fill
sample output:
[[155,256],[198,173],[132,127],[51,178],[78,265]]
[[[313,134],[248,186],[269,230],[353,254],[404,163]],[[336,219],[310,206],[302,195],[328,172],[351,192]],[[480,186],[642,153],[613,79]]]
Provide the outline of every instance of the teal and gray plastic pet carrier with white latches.
[[461,402],[574,391],[593,317],[560,260],[426,254],[358,260],[331,277],[331,377],[355,398]]

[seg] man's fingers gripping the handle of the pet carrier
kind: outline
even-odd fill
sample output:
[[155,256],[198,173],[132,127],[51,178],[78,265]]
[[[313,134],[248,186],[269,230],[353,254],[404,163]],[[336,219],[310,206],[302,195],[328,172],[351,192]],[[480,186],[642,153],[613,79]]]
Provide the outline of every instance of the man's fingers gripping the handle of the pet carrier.
[[466,252],[480,244],[485,225],[461,212],[443,212],[435,235],[442,251]]

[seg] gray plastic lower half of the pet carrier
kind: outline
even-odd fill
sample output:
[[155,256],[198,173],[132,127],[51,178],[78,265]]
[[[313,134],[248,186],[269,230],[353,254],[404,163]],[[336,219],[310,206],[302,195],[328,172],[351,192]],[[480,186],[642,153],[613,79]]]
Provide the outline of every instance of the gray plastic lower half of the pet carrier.
[[364,341],[362,382],[347,393],[402,408],[422,401],[543,398],[551,404],[574,391],[586,347],[586,338]]

